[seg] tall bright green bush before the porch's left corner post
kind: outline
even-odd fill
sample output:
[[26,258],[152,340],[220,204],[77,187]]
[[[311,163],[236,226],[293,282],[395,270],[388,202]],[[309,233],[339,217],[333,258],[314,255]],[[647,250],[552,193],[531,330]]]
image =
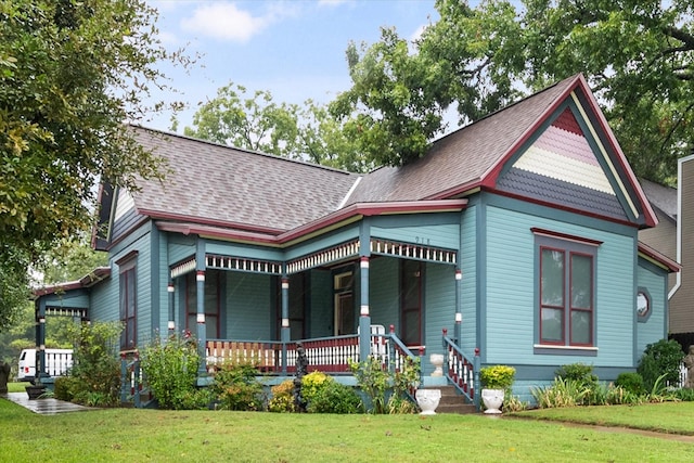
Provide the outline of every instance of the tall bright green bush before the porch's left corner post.
[[159,408],[183,410],[196,402],[200,356],[193,338],[172,335],[162,340],[157,336],[141,351],[141,359],[146,384]]

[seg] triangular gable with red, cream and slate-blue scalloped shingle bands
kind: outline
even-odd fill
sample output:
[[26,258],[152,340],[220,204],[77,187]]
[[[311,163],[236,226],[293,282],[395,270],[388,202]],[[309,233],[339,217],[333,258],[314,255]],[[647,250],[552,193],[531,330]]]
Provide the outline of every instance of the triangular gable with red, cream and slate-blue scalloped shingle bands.
[[617,220],[628,220],[570,106],[500,177],[498,189]]

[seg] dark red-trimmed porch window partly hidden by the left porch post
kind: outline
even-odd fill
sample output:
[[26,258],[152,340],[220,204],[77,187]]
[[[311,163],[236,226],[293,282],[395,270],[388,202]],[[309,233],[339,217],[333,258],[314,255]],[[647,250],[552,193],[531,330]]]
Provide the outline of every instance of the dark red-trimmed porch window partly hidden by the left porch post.
[[[208,339],[219,338],[219,307],[221,300],[221,272],[205,272],[205,336]],[[196,333],[197,325],[197,281],[195,272],[185,275],[185,327]]]

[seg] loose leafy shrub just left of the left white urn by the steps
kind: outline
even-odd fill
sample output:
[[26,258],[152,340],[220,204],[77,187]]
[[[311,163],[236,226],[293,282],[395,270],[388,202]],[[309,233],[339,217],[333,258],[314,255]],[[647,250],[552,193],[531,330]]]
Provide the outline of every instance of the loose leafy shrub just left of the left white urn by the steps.
[[[400,372],[390,373],[378,358],[369,356],[363,362],[350,361],[349,370],[369,398],[372,413],[412,413],[416,410],[409,393],[420,381],[420,359],[407,359]],[[387,397],[389,389],[391,394]]]

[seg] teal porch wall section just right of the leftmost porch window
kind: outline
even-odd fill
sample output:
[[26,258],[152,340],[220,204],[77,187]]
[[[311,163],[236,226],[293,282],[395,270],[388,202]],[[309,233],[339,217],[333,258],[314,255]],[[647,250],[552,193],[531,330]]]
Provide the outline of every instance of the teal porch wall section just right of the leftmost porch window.
[[270,275],[224,272],[227,276],[227,335],[232,339],[273,339],[272,278]]

